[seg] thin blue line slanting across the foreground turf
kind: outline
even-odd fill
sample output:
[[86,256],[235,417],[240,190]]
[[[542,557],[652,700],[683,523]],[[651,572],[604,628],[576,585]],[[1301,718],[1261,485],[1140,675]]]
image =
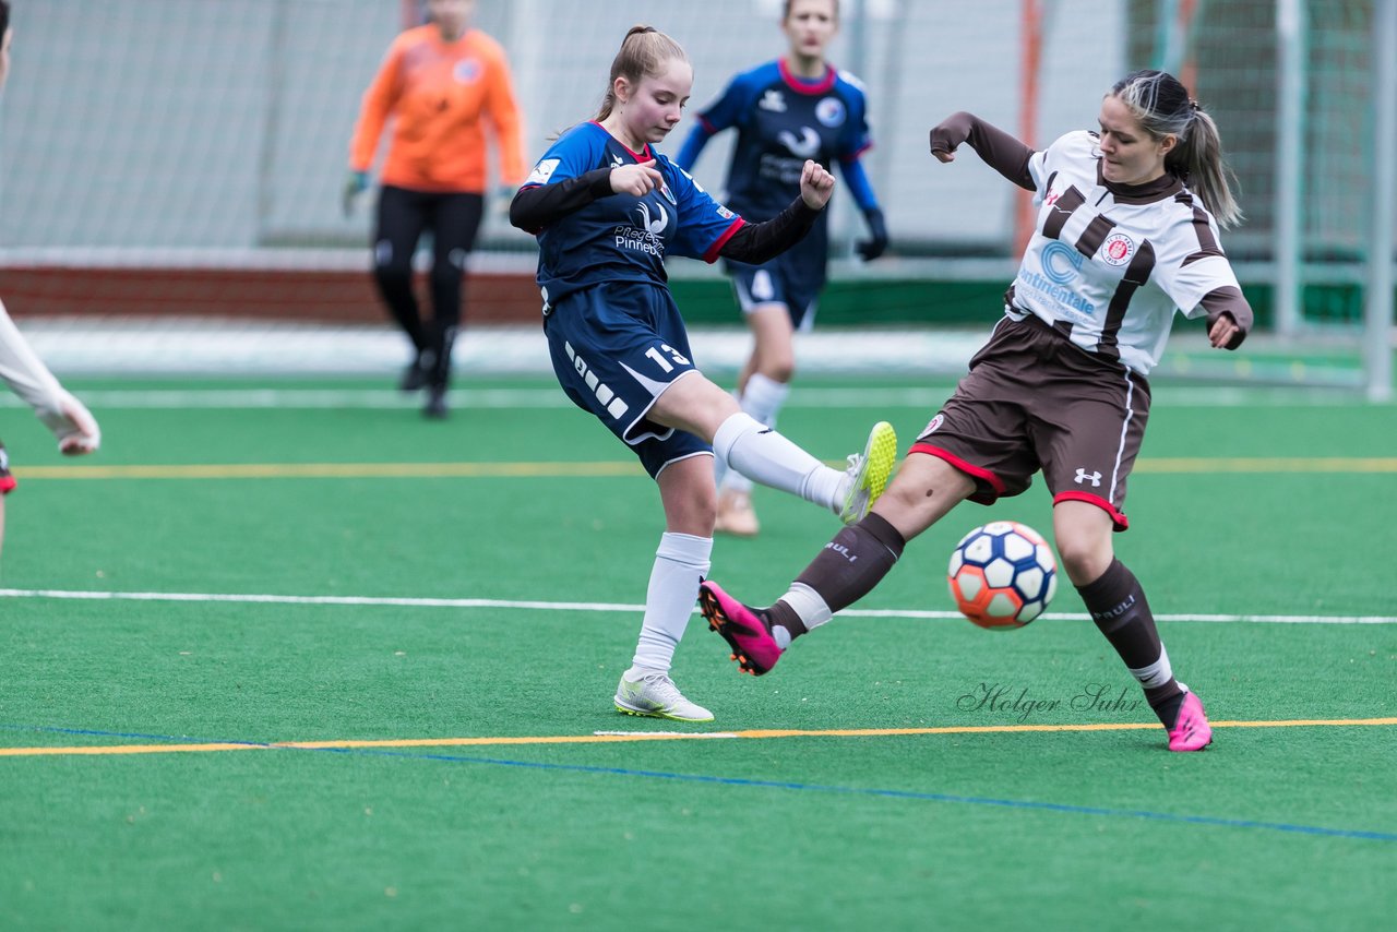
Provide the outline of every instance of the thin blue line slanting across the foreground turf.
[[[509,760],[504,757],[471,757],[465,755],[414,753],[377,748],[285,748],[264,741],[205,739],[190,735],[145,735],[133,732],[98,731],[88,728],[60,728],[53,725],[7,725],[4,731],[31,731],[61,735],[91,735],[98,738],[136,738],[141,741],[180,741],[196,743],[246,745],[271,750],[298,750],[331,755],[353,755],[366,757],[398,757],[407,760],[434,760],[454,764],[486,764],[490,767],[518,767],[555,773],[604,774],[610,777],[643,777],[647,780],[671,780],[676,782],[711,784],[719,787],[750,787],[754,789],[791,789],[800,792],[840,794],[852,796],[879,796],[883,799],[911,799],[919,802],[950,802],[967,806],[997,806],[1002,809],[1035,809],[1039,812],[1062,812],[1077,816],[1105,816],[1111,819],[1150,819],[1154,822],[1175,822],[1221,829],[1260,829],[1292,834],[1322,836],[1329,838],[1355,838],[1362,841],[1397,841],[1397,833],[1369,831],[1365,829],[1327,829],[1324,826],[1302,826],[1288,822],[1260,822],[1256,819],[1224,819],[1220,816],[1189,816],[1148,809],[1109,809],[1104,806],[1077,806],[1062,802],[1038,802],[1032,799],[996,799],[993,796],[963,796],[949,792],[921,792],[915,789],[883,789],[877,787],[835,787],[827,784],[793,782],[784,780],[753,780],[749,777],[717,777],[712,774],[683,774],[666,770],[634,770],[630,767],[599,767],[595,764],[556,764],[536,760]],[[1206,752],[1204,752],[1206,753]]]

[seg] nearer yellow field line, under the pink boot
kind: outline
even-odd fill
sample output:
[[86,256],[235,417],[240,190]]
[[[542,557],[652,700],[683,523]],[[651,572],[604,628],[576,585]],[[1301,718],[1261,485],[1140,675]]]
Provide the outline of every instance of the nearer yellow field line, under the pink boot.
[[[1397,725],[1397,718],[1298,718],[1287,721],[1215,721],[1214,728],[1336,728],[1355,725]],[[728,732],[602,732],[594,735],[502,735],[486,738],[387,738],[381,741],[279,741],[265,745],[88,745],[78,748],[0,748],[0,757],[47,757],[75,755],[173,755],[217,750],[351,750],[373,748],[479,748],[502,745],[605,745],[640,741],[694,741],[711,738],[890,738],[902,735],[985,735],[1063,731],[1148,731],[1153,722],[1094,722],[1076,725],[946,725],[940,728],[754,728]]]

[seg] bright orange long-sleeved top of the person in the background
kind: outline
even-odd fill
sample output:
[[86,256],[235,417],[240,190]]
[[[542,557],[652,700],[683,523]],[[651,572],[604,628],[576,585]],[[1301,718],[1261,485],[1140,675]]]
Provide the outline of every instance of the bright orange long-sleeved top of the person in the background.
[[467,29],[443,42],[434,25],[408,29],[365,91],[349,143],[349,168],[373,165],[383,127],[393,138],[383,165],[384,184],[426,191],[485,191],[485,122],[500,150],[500,182],[524,180],[520,112],[509,63],[499,42]]

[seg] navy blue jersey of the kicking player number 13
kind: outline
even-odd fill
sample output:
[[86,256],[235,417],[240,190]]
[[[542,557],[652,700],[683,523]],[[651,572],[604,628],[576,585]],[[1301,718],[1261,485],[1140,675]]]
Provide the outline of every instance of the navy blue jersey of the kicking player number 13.
[[[655,159],[664,183],[644,197],[612,194],[573,211],[538,235],[538,284],[543,300],[602,282],[651,282],[664,286],[665,256],[675,253],[714,261],[742,226],[686,172],[645,147],[631,152],[598,123],[581,123],[549,147],[522,187],[555,184],[598,168]],[[789,200],[787,201],[789,204]]]

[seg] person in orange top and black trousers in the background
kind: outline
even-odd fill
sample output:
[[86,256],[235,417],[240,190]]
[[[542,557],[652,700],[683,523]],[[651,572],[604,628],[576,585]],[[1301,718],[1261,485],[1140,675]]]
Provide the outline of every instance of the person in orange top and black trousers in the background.
[[[474,8],[475,0],[427,0],[430,22],[388,48],[363,95],[344,187],[348,214],[369,187],[379,138],[393,117],[373,236],[374,281],[415,349],[401,386],[426,387],[423,412],[432,418],[447,414],[465,259],[485,210],[486,123],[499,147],[502,189],[513,196],[525,173],[504,49],[471,28]],[[423,321],[412,293],[412,253],[429,229],[432,320]]]

